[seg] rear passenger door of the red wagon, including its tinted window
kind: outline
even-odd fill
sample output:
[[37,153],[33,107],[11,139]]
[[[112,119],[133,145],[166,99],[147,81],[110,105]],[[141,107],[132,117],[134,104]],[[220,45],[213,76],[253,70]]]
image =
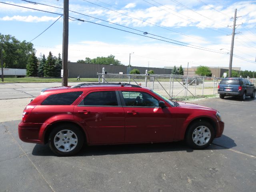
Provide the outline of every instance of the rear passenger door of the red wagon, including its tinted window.
[[75,106],[74,117],[86,129],[90,144],[124,142],[124,109],[117,91],[88,92]]

